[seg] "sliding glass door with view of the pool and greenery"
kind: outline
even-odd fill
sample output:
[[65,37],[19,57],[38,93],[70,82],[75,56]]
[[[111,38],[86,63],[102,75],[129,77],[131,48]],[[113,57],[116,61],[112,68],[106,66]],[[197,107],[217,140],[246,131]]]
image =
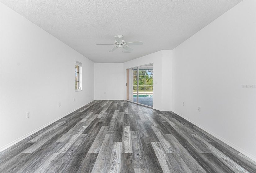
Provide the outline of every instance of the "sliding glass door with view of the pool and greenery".
[[153,107],[153,64],[127,69],[126,99]]

